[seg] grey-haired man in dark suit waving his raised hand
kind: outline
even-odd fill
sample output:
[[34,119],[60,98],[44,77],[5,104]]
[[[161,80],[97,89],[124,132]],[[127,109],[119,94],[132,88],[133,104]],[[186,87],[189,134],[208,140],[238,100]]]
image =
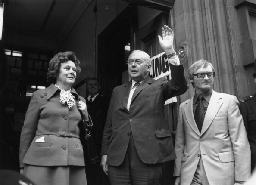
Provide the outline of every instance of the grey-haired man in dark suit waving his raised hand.
[[159,36],[171,68],[169,82],[150,78],[150,56],[135,50],[128,57],[132,80],[113,90],[101,150],[101,166],[112,185],[159,185],[162,163],[175,158],[164,103],[184,93],[187,81],[173,49],[173,36],[166,25],[163,38]]

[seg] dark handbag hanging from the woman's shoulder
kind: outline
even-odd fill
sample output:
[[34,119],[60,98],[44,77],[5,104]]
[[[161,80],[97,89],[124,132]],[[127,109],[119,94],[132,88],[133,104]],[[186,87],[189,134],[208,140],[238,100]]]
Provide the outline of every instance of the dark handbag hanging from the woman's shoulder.
[[91,129],[93,127],[93,122],[92,122],[89,114],[88,114],[89,121],[86,121],[84,119],[84,114],[82,114],[81,111],[79,111],[79,112],[81,114],[82,123],[83,123],[84,130],[85,130],[85,135],[84,135],[85,159],[87,159],[91,164],[95,164],[100,161],[100,156],[98,154],[94,139],[91,136]]

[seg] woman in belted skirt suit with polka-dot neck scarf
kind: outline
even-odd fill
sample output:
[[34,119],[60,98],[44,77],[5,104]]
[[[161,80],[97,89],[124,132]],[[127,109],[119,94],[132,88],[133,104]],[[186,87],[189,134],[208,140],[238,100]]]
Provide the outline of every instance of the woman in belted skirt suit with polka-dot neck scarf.
[[79,111],[86,121],[89,116],[84,99],[72,88],[79,64],[73,52],[56,54],[47,73],[52,84],[32,94],[19,156],[21,173],[38,185],[87,184]]

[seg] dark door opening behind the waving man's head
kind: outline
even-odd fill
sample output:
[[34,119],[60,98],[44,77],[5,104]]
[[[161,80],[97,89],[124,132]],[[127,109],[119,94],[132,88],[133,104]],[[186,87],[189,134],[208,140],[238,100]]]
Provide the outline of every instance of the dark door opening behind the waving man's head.
[[104,96],[122,84],[125,46],[131,43],[131,33],[137,29],[137,6],[129,5],[98,37],[98,79]]

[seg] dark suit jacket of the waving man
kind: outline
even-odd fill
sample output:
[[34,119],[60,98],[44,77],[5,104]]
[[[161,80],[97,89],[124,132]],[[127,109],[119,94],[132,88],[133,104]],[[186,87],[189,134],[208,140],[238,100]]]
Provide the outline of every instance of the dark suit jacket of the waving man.
[[130,133],[144,163],[162,163],[175,158],[171,131],[165,120],[165,100],[187,90],[183,66],[170,65],[172,79],[147,77],[134,92],[130,111],[126,105],[131,82],[114,88],[103,133],[101,154],[107,163],[119,166],[128,147]]

